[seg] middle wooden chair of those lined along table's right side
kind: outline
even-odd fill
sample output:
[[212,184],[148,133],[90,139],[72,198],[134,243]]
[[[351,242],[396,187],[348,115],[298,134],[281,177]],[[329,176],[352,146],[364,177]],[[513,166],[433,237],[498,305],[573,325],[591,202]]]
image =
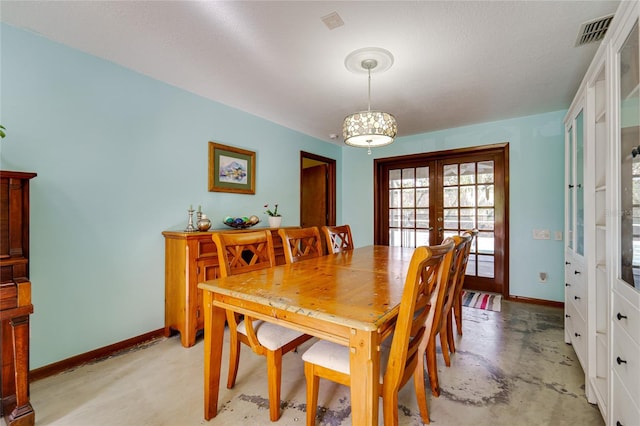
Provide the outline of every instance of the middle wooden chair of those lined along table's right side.
[[442,317],[440,320],[440,348],[442,357],[447,367],[451,365],[450,353],[455,352],[455,341],[453,334],[449,333],[451,326],[451,316],[453,312],[453,304],[455,303],[455,294],[458,284],[464,280],[464,274],[467,269],[467,259],[469,258],[469,247],[471,244],[471,234],[463,233],[462,235],[454,235],[453,241],[455,248],[453,249],[453,260],[451,261],[451,272],[449,272],[449,285],[445,293],[445,300],[442,307]]

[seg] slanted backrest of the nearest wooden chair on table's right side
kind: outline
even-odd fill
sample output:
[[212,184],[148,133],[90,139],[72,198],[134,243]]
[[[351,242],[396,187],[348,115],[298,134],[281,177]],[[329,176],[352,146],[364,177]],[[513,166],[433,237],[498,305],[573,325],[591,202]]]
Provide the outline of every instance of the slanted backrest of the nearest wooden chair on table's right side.
[[389,361],[383,380],[383,397],[399,389],[422,362],[428,333],[441,289],[449,279],[453,240],[415,249],[405,280]]

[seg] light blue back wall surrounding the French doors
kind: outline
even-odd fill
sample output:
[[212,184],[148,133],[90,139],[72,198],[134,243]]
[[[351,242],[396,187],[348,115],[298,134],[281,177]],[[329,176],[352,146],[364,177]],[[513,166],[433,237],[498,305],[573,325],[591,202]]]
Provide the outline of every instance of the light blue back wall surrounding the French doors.
[[[510,294],[564,300],[563,231],[564,133],[566,110],[398,138],[367,155],[343,149],[343,215],[356,245],[373,243],[373,161],[418,152],[509,143]],[[398,123],[401,126],[402,123]],[[551,240],[534,240],[534,229],[548,229]],[[547,283],[538,273],[547,272]]]

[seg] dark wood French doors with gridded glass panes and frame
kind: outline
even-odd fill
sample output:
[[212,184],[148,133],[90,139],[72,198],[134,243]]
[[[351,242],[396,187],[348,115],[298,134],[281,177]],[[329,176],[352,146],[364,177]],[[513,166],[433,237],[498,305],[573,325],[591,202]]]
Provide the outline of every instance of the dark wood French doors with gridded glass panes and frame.
[[375,243],[417,247],[478,229],[465,288],[508,295],[508,145],[376,160]]

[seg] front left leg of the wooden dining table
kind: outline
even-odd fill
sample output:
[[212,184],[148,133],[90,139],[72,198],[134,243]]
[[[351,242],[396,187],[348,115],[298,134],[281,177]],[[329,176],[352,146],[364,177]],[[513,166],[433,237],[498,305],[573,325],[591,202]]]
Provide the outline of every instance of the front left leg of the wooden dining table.
[[218,414],[220,364],[224,340],[224,309],[213,305],[213,293],[203,292],[204,300],[204,418],[211,420]]

